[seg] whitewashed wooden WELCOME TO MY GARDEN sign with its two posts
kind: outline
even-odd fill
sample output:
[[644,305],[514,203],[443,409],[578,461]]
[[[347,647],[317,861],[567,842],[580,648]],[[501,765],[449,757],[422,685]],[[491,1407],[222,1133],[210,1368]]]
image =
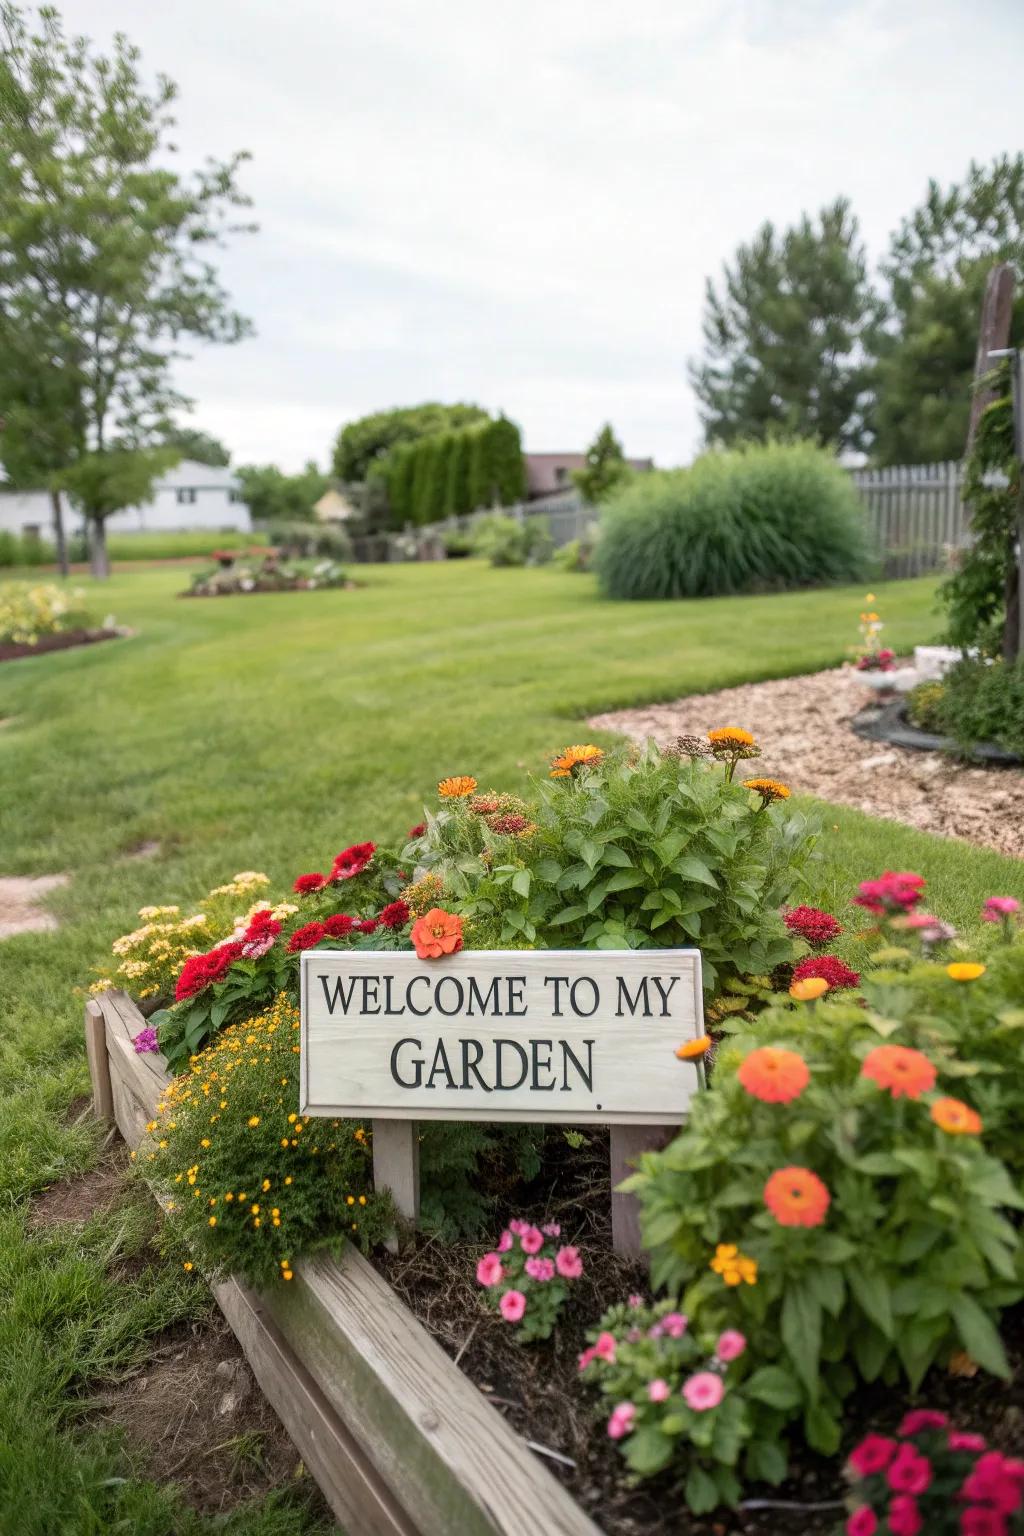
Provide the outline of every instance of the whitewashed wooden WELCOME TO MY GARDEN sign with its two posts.
[[[309,949],[301,1112],[370,1118],[373,1170],[419,1215],[421,1120],[611,1127],[613,1190],[668,1140],[702,1083],[676,1048],[703,1034],[697,949]],[[640,1249],[613,1193],[619,1252]]]

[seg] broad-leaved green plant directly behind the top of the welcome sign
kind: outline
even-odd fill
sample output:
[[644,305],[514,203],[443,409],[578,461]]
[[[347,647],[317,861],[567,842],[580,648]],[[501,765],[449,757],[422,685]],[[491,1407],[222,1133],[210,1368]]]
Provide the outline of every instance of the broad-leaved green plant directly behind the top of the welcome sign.
[[[699,945],[712,991],[791,957],[778,908],[803,877],[814,823],[758,809],[722,765],[648,748],[545,780],[522,809],[474,809],[494,799],[428,813],[418,849],[468,914],[473,948]],[[494,829],[517,813],[519,831]]]

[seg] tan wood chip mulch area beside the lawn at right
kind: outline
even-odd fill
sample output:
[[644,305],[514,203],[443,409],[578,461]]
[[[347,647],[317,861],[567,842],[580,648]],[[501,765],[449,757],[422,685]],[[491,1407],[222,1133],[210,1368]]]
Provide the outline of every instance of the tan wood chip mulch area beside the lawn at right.
[[783,779],[800,794],[1024,857],[1024,773],[866,742],[849,722],[872,697],[857,671],[841,667],[596,714],[588,723],[640,742],[651,736],[663,746],[715,725],[743,725],[763,748],[752,771]]

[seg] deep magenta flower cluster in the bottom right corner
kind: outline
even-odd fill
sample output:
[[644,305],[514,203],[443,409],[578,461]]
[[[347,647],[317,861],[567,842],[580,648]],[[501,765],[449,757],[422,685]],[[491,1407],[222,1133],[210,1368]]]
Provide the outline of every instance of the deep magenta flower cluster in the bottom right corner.
[[[890,1536],[1009,1536],[1009,1518],[1024,1508],[1024,1461],[989,1450],[981,1435],[950,1428],[933,1409],[907,1413],[898,1435],[867,1435],[851,1453],[849,1471],[869,1502],[849,1516],[846,1536],[875,1536],[880,1516]],[[913,1444],[921,1436],[924,1444]]]

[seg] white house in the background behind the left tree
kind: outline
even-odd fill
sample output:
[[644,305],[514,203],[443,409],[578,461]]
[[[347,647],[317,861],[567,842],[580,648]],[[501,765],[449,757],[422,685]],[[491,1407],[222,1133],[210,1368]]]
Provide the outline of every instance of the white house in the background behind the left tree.
[[[64,498],[64,525],[75,531],[81,518]],[[49,492],[5,492],[0,488],[0,531],[37,535],[49,539],[52,510]],[[178,533],[207,528],[215,533],[249,533],[252,519],[241,499],[241,484],[230,468],[181,459],[154,485],[154,499],[141,507],[124,507],[107,518],[111,533],[160,530]]]

